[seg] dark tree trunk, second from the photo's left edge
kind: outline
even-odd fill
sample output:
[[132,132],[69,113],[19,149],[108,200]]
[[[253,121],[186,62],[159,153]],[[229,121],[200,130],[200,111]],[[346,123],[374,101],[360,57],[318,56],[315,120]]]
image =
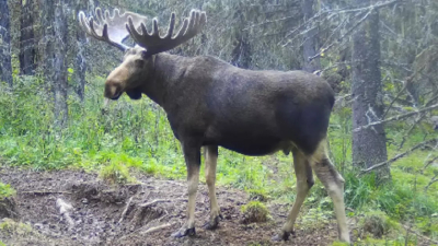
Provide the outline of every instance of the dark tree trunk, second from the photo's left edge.
[[34,35],[34,5],[33,0],[21,0],[21,35],[20,35],[20,73],[33,75],[35,73],[35,35]]

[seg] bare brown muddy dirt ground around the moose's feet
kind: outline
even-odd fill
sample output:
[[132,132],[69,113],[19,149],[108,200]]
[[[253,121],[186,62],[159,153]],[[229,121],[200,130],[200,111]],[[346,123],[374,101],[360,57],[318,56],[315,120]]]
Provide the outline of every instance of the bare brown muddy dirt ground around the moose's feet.
[[206,185],[199,184],[197,234],[173,238],[171,233],[185,218],[185,183],[141,174],[136,178],[139,184],[112,186],[81,171],[33,172],[0,166],[0,180],[16,190],[14,221],[27,224],[21,231],[0,229],[0,241],[8,246],[330,245],[337,237],[332,220],[319,229],[297,230],[296,238],[288,242],[274,243],[270,237],[285,222],[291,204],[268,203],[270,222],[245,225],[240,207],[250,201],[247,195],[226,187],[217,189],[223,220],[216,231],[206,231],[201,225],[209,213],[208,194]]

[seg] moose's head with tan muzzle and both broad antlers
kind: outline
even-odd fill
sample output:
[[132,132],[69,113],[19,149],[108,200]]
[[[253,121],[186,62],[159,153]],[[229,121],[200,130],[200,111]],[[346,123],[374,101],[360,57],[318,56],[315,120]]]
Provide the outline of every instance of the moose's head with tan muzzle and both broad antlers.
[[[152,31],[146,27],[147,17],[132,12],[120,14],[115,9],[113,14],[100,8],[95,10],[94,19],[79,13],[81,27],[97,40],[105,42],[125,52],[123,62],[114,69],[106,79],[104,96],[118,99],[126,92],[132,99],[141,98],[141,86],[145,78],[153,71],[154,55],[170,50],[198,34],[207,22],[205,12],[192,10],[189,17],[184,19],[180,31],[174,35],[175,13],[171,14],[168,32],[160,35],[158,20],[152,20]],[[129,47],[123,42],[130,36],[137,44]]]

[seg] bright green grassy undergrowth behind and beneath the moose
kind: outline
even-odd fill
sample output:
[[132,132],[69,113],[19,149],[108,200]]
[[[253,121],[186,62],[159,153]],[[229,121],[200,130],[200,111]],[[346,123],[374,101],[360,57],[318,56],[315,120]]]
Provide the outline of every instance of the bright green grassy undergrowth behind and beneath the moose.
[[[127,96],[103,112],[103,79],[89,78],[89,81],[84,102],[69,97],[69,120],[62,127],[54,125],[51,95],[38,90],[45,86],[44,81],[15,79],[13,93],[1,87],[0,156],[5,164],[34,169],[100,172],[102,178],[114,183],[132,181],[128,171],[170,179],[185,178],[181,147],[164,112],[147,97],[130,101]],[[425,187],[438,171],[437,167],[423,169],[430,152],[417,151],[395,162],[391,184],[378,186],[372,175],[358,177],[350,159],[350,114],[349,108],[335,112],[328,131],[331,157],[346,179],[348,215],[378,210],[399,222],[415,225],[425,235],[437,237],[438,185],[427,190]],[[387,128],[393,142],[401,140],[399,129]],[[413,131],[402,151],[422,137],[422,132]],[[390,142],[389,155],[395,155],[396,149]],[[220,149],[217,180],[220,185],[249,190],[254,200],[292,203],[296,178],[291,164],[291,155],[283,153],[250,157]],[[200,179],[204,180],[204,168]],[[0,192],[3,189],[0,187]],[[306,200],[306,208],[308,215],[333,216],[333,203],[318,180]],[[306,213],[303,216],[306,219]]]

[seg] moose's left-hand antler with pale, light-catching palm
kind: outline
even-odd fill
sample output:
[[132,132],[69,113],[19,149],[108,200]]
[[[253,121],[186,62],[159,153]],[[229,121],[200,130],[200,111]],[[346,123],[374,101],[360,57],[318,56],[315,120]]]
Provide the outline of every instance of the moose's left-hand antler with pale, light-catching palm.
[[123,51],[129,48],[123,44],[129,36],[126,30],[127,16],[132,20],[132,26],[136,27],[139,27],[141,23],[147,21],[147,17],[132,12],[120,14],[118,9],[115,9],[113,15],[111,15],[110,11],[106,10],[103,14],[101,8],[96,8],[95,16],[97,22],[94,22],[93,16],[87,19],[84,12],[79,12],[79,23],[82,30],[97,40],[106,42]]

